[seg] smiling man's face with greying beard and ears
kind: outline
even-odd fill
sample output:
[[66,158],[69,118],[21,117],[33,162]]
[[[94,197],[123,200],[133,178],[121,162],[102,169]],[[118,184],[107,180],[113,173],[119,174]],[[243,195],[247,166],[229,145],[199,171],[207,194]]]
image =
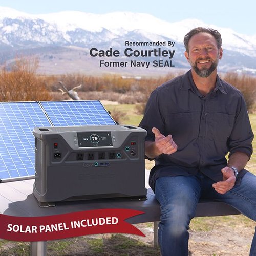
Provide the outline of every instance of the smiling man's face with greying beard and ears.
[[222,48],[218,50],[214,36],[198,33],[190,38],[185,57],[200,77],[208,77],[216,70],[219,59],[222,58],[222,52]]

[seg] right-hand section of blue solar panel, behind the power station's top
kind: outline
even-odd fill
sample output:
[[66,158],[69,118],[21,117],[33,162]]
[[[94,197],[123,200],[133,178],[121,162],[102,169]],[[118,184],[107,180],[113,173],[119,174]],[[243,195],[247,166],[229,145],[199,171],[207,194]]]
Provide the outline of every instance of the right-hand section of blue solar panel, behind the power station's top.
[[41,101],[54,126],[116,124],[98,100]]

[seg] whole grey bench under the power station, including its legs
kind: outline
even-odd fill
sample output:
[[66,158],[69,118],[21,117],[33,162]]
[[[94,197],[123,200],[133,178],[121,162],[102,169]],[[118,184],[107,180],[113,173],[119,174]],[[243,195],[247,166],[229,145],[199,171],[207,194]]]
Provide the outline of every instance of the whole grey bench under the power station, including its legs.
[[[145,212],[126,221],[131,224],[154,222],[154,246],[157,245],[157,223],[160,207],[153,191],[147,189],[146,200],[101,199],[57,202],[55,207],[41,208],[32,194],[34,180],[0,183],[0,213],[10,216],[37,217],[66,214],[102,208],[124,208]],[[197,206],[196,217],[236,215],[240,212],[230,205],[217,201],[201,200]],[[31,255],[45,256],[47,242],[31,242]]]

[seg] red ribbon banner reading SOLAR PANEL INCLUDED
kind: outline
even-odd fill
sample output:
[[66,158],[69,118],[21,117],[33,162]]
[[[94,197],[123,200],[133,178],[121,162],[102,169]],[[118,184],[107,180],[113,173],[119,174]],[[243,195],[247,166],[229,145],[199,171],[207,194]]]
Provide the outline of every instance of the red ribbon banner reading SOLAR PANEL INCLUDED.
[[99,233],[145,236],[124,220],[143,214],[132,209],[99,209],[44,217],[0,214],[0,238],[12,241],[47,241]]

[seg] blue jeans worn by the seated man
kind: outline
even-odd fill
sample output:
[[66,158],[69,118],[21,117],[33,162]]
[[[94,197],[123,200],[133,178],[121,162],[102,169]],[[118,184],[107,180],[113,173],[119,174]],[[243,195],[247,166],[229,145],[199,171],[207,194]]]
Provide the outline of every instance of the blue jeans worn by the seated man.
[[[246,173],[241,184],[221,195],[202,173],[193,176],[160,177],[156,180],[156,198],[161,206],[158,239],[162,256],[187,256],[189,223],[195,217],[199,198],[215,199],[232,205],[256,221],[256,176]],[[230,234],[230,237],[232,234]],[[250,256],[256,256],[256,234]]]

